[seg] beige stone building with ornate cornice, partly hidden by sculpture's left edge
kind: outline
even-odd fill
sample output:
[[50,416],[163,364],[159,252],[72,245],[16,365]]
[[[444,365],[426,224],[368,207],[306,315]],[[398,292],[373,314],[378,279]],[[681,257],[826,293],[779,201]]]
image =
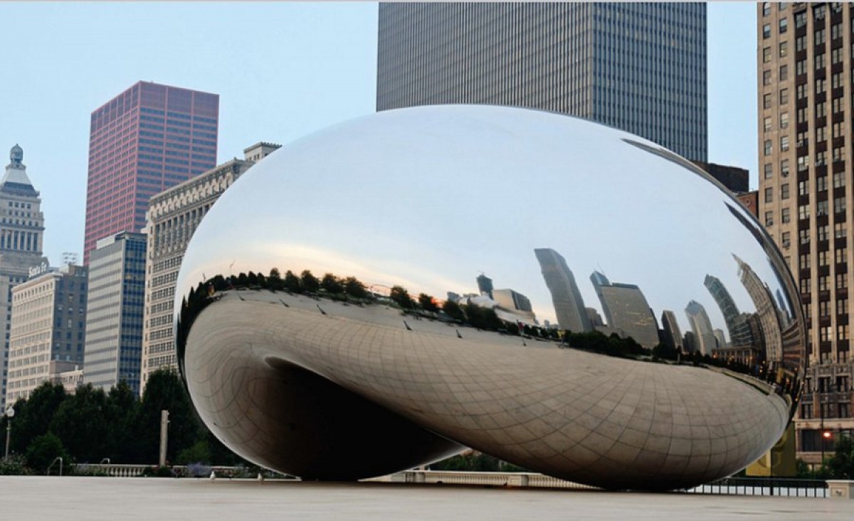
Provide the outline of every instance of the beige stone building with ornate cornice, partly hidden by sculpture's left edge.
[[178,269],[190,237],[225,189],[279,147],[274,143],[256,143],[243,150],[245,159],[233,159],[151,198],[143,315],[143,389],[150,373],[159,368],[178,368],[173,298]]

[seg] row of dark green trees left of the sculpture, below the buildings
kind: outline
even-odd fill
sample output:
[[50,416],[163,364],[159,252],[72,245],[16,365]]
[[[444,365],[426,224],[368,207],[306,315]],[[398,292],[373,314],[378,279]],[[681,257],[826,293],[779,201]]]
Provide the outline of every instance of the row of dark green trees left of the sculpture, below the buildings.
[[161,369],[149,376],[142,397],[126,383],[109,391],[80,385],[73,394],[50,381],[12,404],[0,433],[9,430],[9,459],[3,473],[44,473],[61,457],[74,464],[155,465],[160,450],[161,410],[169,411],[167,461],[174,465],[246,464],[219,442],[196,414],[178,373]]

